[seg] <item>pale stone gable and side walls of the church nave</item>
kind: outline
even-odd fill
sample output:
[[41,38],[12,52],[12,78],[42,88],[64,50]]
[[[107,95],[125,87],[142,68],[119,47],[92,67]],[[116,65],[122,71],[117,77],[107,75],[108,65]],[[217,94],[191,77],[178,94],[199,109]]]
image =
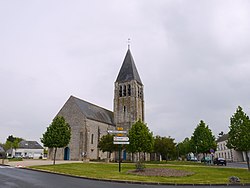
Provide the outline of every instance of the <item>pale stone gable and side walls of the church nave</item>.
[[[98,140],[107,129],[114,129],[113,125],[87,119],[80,111],[74,100],[70,98],[57,114],[63,116],[71,127],[71,140],[69,145],[69,160],[104,159],[107,153],[99,151]],[[49,159],[53,159],[54,150],[49,149]],[[65,148],[57,149],[57,160],[64,160]]]

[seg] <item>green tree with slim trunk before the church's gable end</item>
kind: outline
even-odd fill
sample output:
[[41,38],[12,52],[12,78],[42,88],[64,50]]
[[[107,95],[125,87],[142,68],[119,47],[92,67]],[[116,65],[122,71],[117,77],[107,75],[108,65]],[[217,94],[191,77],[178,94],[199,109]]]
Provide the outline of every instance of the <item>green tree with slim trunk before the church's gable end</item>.
[[55,164],[57,148],[66,147],[69,144],[70,138],[71,129],[69,124],[66,123],[64,117],[55,117],[41,138],[41,142],[45,147],[55,149],[53,164]]

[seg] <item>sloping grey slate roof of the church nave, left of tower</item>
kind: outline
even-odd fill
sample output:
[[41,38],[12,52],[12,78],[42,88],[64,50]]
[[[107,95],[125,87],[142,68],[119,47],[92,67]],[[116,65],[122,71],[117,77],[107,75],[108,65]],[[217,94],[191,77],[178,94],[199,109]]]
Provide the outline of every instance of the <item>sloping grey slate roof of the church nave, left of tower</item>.
[[81,112],[86,116],[86,118],[114,125],[113,112],[74,96],[71,96],[71,98],[73,98],[76,105],[80,108]]

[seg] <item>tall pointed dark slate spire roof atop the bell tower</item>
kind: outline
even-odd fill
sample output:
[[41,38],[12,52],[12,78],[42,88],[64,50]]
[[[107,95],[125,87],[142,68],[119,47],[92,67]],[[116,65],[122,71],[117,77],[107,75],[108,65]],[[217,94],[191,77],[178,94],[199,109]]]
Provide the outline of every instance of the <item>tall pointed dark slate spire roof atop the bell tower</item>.
[[134,59],[132,57],[130,49],[128,49],[125,59],[122,63],[120,72],[117,76],[116,82],[127,82],[131,80],[136,80],[138,83],[142,84],[142,81],[135,66]]

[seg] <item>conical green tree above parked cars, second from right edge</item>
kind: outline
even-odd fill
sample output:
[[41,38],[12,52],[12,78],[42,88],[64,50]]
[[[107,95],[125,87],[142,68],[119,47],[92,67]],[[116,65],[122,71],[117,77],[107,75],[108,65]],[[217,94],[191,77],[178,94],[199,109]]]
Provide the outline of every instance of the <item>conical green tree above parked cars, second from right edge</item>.
[[203,120],[195,128],[190,143],[193,153],[203,153],[204,156],[217,146],[215,136]]

